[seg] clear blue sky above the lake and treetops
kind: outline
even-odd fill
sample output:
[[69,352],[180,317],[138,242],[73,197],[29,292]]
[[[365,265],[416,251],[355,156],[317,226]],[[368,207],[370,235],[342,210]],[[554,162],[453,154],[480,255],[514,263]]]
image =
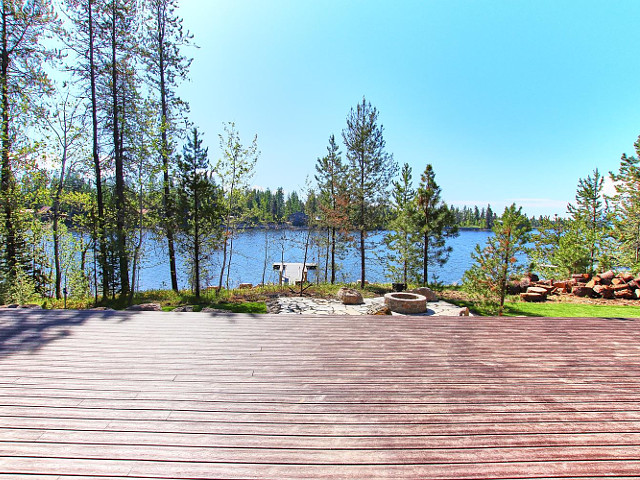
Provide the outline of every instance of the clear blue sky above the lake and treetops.
[[457,206],[565,215],[580,178],[635,153],[637,0],[182,0],[179,14],[198,46],[179,95],[210,158],[223,122],[258,136],[262,188],[303,190],[363,97],[387,152],[416,183],[433,165]]

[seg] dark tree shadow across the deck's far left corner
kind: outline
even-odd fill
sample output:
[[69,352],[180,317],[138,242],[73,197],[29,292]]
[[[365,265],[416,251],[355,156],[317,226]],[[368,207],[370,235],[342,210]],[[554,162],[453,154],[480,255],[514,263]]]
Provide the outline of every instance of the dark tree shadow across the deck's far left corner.
[[21,352],[35,352],[43,346],[72,334],[73,328],[88,320],[121,322],[135,312],[91,310],[31,310],[0,311],[0,358]]

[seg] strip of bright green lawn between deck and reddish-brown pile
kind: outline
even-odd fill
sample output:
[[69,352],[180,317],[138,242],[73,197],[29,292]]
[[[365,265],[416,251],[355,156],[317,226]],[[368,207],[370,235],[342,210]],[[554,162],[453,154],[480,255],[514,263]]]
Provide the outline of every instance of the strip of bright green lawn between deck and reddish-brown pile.
[[601,317],[601,318],[640,318],[640,307],[589,305],[584,303],[506,303],[505,316],[528,317]]

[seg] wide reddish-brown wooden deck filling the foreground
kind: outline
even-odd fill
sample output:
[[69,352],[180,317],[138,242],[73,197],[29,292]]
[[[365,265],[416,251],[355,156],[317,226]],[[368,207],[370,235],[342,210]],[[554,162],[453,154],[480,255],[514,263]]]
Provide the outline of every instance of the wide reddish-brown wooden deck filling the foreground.
[[637,478],[640,320],[0,313],[0,478]]

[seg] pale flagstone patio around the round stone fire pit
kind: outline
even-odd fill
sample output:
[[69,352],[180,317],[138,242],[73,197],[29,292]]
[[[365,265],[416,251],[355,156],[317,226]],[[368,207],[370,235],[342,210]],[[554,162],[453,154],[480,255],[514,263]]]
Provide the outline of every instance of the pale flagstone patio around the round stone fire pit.
[[[311,297],[280,297],[280,315],[366,315],[372,304],[384,303],[383,297],[365,298],[362,305],[343,305],[338,300],[326,300]],[[420,316],[453,316],[457,317],[462,308],[439,300],[427,303],[427,311]],[[393,313],[392,315],[401,315]]]

